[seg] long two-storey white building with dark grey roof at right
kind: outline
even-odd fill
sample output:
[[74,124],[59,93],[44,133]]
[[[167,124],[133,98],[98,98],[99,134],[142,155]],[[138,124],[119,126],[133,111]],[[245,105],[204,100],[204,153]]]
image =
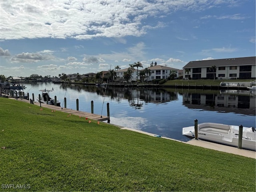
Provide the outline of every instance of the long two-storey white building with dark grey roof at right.
[[[210,70],[212,66],[216,66],[215,72]],[[256,77],[256,57],[190,61],[183,74],[185,79],[251,79]]]

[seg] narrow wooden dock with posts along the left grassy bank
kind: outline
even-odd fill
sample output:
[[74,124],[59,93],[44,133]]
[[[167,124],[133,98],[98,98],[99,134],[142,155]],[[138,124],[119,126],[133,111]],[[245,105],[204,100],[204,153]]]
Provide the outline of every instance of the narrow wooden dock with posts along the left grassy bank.
[[[10,99],[15,99],[15,100],[18,100],[18,101],[21,101],[21,102],[30,103],[30,100],[26,100],[26,99],[20,99],[20,98],[18,98],[18,99],[17,98],[10,98]],[[40,106],[39,102],[34,102],[34,104],[37,105],[37,106]],[[87,118],[92,119],[92,120],[108,121],[108,123],[110,122],[110,117],[107,117],[107,116],[101,116],[101,115],[98,115],[98,114],[82,112],[82,111],[73,110],[73,109],[69,109],[69,108],[62,108],[62,107],[58,107],[58,106],[55,106],[55,105],[44,104],[44,103],[41,103],[41,106],[44,107],[44,108],[48,108],[48,109],[52,109],[52,110],[56,110],[56,111],[61,111],[61,112],[72,114],[72,115],[87,117]]]

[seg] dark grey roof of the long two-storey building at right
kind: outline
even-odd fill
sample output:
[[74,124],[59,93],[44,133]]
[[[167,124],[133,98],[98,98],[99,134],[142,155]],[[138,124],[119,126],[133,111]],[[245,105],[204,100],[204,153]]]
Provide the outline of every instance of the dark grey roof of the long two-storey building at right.
[[240,57],[227,59],[213,59],[203,61],[190,61],[183,68],[195,67],[211,67],[211,66],[239,66],[239,65],[255,65],[256,57]]

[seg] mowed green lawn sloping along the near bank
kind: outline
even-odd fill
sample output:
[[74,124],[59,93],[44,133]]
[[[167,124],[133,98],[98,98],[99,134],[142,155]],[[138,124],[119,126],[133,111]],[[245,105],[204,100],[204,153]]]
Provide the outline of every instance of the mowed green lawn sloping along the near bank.
[[1,191],[256,190],[253,158],[42,109],[0,98]]

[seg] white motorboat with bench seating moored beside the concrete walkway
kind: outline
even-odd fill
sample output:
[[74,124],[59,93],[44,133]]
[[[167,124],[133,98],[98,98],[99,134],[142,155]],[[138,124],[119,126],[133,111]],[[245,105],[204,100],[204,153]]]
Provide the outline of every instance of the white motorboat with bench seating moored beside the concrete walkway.
[[[238,147],[239,126],[218,123],[198,124],[198,138],[220,144]],[[182,135],[195,137],[194,126],[184,127]],[[256,130],[254,127],[243,127],[242,148],[256,150]]]

